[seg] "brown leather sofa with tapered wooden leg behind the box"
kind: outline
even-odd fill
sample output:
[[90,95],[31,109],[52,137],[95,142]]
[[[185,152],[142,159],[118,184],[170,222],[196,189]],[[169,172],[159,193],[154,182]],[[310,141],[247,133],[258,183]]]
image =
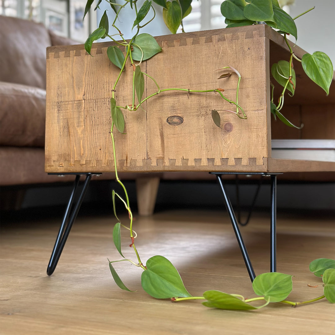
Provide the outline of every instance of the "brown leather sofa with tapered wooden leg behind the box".
[[[14,185],[74,180],[74,176],[60,179],[44,171],[46,48],[71,44],[78,42],[55,35],[42,23],[0,16],[0,186],[7,186],[6,190]],[[160,175],[142,177],[120,174],[122,179],[137,179],[140,211],[150,214]],[[115,174],[99,179],[115,179]],[[8,199],[7,194],[4,198],[18,200]]]

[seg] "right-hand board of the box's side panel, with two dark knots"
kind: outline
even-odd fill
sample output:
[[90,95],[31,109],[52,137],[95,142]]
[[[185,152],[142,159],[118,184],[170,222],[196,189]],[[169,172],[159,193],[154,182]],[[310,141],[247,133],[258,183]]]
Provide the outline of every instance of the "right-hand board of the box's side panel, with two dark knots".
[[[247,120],[220,111],[236,111],[236,107],[219,94],[169,91],[148,101],[150,119],[155,127],[148,127],[148,153],[151,162],[163,159],[163,165],[208,166],[263,164],[268,156],[268,119],[266,114],[266,40],[260,30],[222,33],[227,29],[211,31],[210,36],[162,41],[164,53],[147,61],[147,69],[159,74],[161,88],[176,87],[191,90],[223,88],[223,94],[236,100],[238,78],[217,79],[227,70],[215,71],[230,65],[242,75],[239,104]],[[204,50],[206,52],[204,52]],[[187,56],[185,56],[187,55]],[[170,59],[166,64],[166,58]],[[192,83],[190,85],[190,83]],[[152,81],[147,81],[147,94],[155,92]],[[212,121],[211,110],[219,110],[221,129]],[[180,125],[166,120],[177,116]],[[180,136],[181,135],[181,136]],[[153,159],[152,159],[153,158]],[[250,159],[253,158],[253,159]],[[225,167],[227,168],[227,167]],[[209,168],[213,170],[213,166]]]

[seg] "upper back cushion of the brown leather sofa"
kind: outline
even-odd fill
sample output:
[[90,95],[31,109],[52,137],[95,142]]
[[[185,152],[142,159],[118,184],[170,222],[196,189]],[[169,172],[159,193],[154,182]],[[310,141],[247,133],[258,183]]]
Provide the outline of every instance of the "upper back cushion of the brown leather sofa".
[[46,88],[46,49],[51,46],[42,23],[0,17],[0,81]]

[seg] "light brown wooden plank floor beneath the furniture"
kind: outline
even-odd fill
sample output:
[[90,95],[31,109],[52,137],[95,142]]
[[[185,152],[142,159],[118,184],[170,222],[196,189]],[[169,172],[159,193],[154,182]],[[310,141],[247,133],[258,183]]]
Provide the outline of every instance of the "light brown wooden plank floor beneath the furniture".
[[[335,304],[326,300],[243,312],[209,309],[199,300],[172,304],[147,295],[140,286],[141,270],[126,262],[115,267],[137,292],[119,289],[107,261],[120,259],[112,242],[113,216],[78,217],[56,271],[48,277],[59,223],[52,218],[2,227],[2,335],[335,334]],[[254,296],[225,212],[162,211],[136,217],[135,226],[142,261],[167,257],[191,294],[218,289]],[[268,272],[267,214],[256,213],[241,232],[256,274]],[[334,258],[333,219],[279,214],[277,233],[277,271],[295,275],[290,300],[322,295],[322,281],[308,266],[316,258]],[[129,242],[124,241],[124,255],[135,260]]]

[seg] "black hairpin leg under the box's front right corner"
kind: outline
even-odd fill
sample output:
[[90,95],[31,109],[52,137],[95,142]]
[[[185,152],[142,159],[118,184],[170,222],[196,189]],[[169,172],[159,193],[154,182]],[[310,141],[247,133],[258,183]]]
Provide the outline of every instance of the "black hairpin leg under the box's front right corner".
[[221,175],[223,174],[251,174],[251,175],[263,175],[263,176],[271,176],[271,222],[270,222],[270,272],[276,272],[276,181],[277,181],[277,174],[271,174],[267,175],[265,173],[215,173],[215,172],[210,172],[210,174],[216,175],[216,178],[221,186],[221,190],[223,193],[224,197],[224,203],[227,208],[233,229],[235,231],[235,235],[237,238],[237,241],[239,243],[244,262],[246,264],[249,277],[251,281],[253,281],[256,277],[254,269],[252,267],[247,248],[244,245],[243,238],[241,236],[241,232],[236,220],[236,216],[234,213],[234,210],[231,206],[229,197],[227,196],[223,184],[222,184],[222,179]]

